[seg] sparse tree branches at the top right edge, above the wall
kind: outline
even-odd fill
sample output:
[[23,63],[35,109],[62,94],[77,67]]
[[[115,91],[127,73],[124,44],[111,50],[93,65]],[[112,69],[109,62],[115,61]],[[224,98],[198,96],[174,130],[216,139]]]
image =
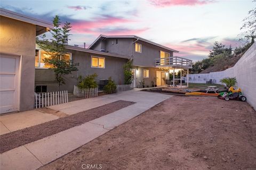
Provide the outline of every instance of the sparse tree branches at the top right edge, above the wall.
[[[253,1],[256,3],[256,0]],[[248,12],[248,15],[243,21],[244,24],[241,30],[245,30],[245,39],[251,40],[251,45],[254,43],[254,38],[256,38],[256,7]]]

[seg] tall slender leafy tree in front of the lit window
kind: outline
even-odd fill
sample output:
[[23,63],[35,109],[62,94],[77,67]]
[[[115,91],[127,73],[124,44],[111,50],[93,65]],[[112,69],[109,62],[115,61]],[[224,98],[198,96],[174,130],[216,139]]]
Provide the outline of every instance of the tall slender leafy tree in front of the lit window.
[[50,30],[52,38],[50,40],[46,39],[46,35],[41,36],[42,40],[36,39],[36,43],[39,47],[47,53],[49,58],[45,58],[44,62],[50,64],[50,70],[54,71],[55,80],[58,81],[58,90],[61,84],[65,84],[65,79],[63,75],[71,74],[73,71],[77,71],[77,64],[73,61],[65,59],[67,54],[65,45],[68,42],[68,37],[71,26],[69,22],[65,22],[61,27],[60,18],[56,15],[53,18],[54,28]]

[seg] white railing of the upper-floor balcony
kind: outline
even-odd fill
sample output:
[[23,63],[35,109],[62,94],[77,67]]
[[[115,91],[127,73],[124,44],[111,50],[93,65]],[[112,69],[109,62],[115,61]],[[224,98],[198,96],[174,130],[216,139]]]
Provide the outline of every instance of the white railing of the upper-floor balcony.
[[191,69],[192,60],[182,57],[157,58],[156,67],[162,69]]

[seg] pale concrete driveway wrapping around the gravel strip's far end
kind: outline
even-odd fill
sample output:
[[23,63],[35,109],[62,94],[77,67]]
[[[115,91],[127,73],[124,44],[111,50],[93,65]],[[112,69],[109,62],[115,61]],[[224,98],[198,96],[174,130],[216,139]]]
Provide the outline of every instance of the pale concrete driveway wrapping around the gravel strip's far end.
[[84,109],[98,107],[117,100],[135,102],[131,106],[86,122],[80,126],[75,126],[50,137],[4,152],[0,158],[1,169],[17,169],[17,167],[19,169],[37,169],[98,138],[100,135],[129,121],[131,118],[170,97],[171,95],[130,90],[121,94],[105,95],[51,106],[52,109],[58,109],[66,114],[75,114],[84,111]]

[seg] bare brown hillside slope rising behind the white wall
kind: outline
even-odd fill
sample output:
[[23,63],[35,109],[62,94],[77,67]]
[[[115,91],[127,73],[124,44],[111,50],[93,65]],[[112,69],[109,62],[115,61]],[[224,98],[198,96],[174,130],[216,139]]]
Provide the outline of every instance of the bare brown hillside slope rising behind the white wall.
[[226,70],[230,67],[233,67],[242,56],[243,53],[228,58],[221,58],[221,60],[219,60],[216,64],[209,66],[207,69],[203,70],[200,73],[210,73]]

